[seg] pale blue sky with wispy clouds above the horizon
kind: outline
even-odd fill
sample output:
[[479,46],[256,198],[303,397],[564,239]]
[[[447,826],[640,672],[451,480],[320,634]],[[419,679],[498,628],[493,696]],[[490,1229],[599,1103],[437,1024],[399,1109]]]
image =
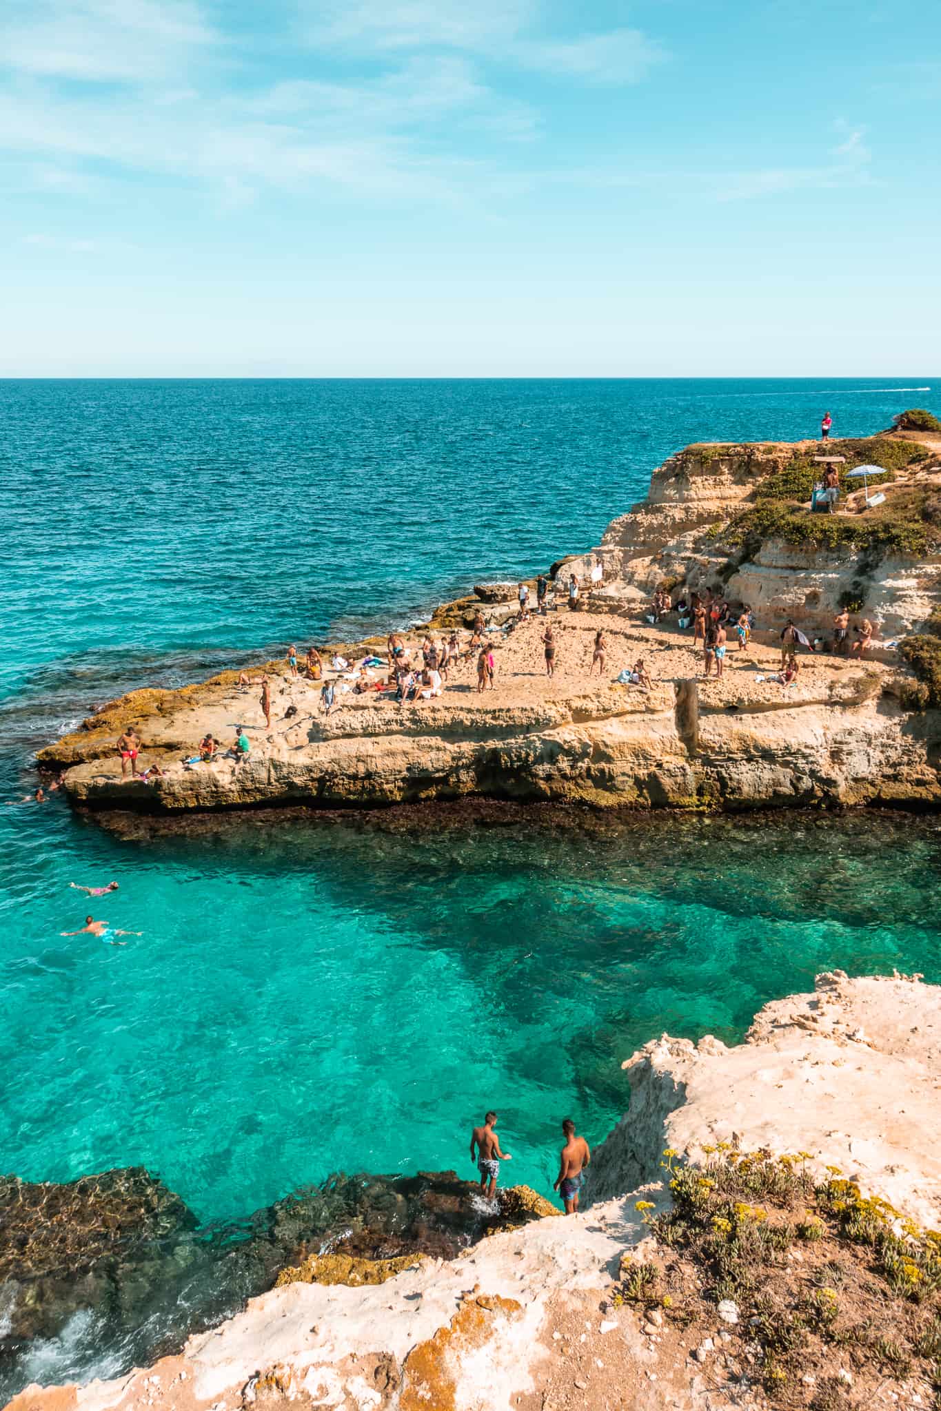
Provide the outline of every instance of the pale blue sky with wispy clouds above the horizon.
[[0,0],[0,375],[941,373],[941,7]]

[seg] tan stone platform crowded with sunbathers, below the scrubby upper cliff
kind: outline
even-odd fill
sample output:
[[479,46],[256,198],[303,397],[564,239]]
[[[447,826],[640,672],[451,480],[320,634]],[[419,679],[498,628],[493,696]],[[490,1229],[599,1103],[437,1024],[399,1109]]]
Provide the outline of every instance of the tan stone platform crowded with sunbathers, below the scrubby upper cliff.
[[[559,642],[552,680],[545,621],[533,618],[495,635],[495,686],[482,694],[474,665],[463,662],[440,700],[399,706],[391,696],[350,693],[324,717],[320,683],[278,677],[271,731],[255,684],[214,684],[206,700],[188,689],[178,703],[164,693],[159,711],[141,711],[128,697],[123,718],[113,708],[106,728],[68,737],[45,759],[83,761],[65,776],[80,806],[165,813],[475,793],[635,807],[941,801],[937,713],[903,711],[885,662],[804,655],[797,682],[784,689],[770,679],[780,665],[776,646],[755,642],[739,652],[735,643],[722,680],[707,680],[691,634],[676,625],[567,610],[550,621]],[[590,672],[600,629],[608,641],[604,679]],[[406,641],[416,649],[420,636]],[[639,658],[653,677],[649,691],[612,680]],[[289,706],[296,714],[285,720]],[[141,763],[158,761],[165,770],[150,785],[120,776],[114,739],[131,721],[144,741]],[[229,744],[238,724],[253,742],[247,762],[182,763],[206,731]]]

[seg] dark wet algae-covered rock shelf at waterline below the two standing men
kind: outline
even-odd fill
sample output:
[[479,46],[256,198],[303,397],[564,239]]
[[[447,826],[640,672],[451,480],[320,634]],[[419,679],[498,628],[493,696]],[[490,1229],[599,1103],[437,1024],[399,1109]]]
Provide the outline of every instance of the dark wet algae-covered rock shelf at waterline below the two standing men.
[[333,1175],[214,1225],[142,1167],[62,1184],[0,1177],[0,1397],[20,1390],[35,1348],[75,1329],[92,1364],[131,1367],[275,1283],[380,1283],[557,1213],[528,1187],[482,1201],[454,1171]]

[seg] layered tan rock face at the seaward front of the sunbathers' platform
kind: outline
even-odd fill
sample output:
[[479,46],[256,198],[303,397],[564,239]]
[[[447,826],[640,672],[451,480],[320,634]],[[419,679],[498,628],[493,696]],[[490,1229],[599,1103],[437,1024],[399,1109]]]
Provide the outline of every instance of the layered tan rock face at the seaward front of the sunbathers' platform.
[[[408,715],[350,708],[324,722],[300,717],[244,763],[182,768],[183,741],[212,718],[198,708],[138,717],[157,758],[176,756],[162,777],[121,780],[110,759],[92,758],[65,782],[79,806],[164,813],[468,794],[602,807],[935,806],[938,713],[910,714],[887,680],[872,667],[821,667],[787,696],[739,673],[532,706],[430,704]],[[233,710],[238,703],[221,703]],[[75,758],[83,746],[82,735],[71,737],[45,758]],[[99,748],[92,738],[89,751]]]

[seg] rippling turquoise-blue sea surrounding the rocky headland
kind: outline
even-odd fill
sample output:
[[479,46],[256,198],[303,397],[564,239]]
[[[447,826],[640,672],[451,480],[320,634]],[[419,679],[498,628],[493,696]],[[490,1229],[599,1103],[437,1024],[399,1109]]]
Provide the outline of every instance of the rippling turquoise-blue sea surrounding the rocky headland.
[[[865,435],[941,412],[886,391],[925,382],[0,382],[0,789],[120,690],[419,619],[597,543],[691,440]],[[561,1118],[604,1137],[663,1029],[735,1040],[834,965],[941,979],[931,820],[492,823],[121,841],[0,809],[0,1171],[144,1164],[219,1221],[336,1170],[470,1175],[492,1105],[547,1192]],[[89,909],[144,935],[63,938]]]

